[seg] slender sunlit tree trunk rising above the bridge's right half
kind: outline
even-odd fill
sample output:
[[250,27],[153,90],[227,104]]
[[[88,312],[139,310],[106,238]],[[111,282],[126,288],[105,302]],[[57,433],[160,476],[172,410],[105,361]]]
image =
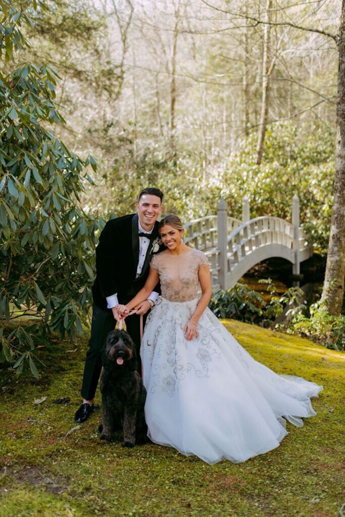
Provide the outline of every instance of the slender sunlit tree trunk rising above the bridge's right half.
[[263,56],[262,56],[262,98],[261,98],[261,114],[259,120],[259,136],[257,145],[257,164],[260,165],[262,160],[263,146],[265,141],[265,132],[267,124],[268,111],[268,53],[269,53],[269,15],[272,9],[272,0],[267,0],[266,4],[266,24],[264,25],[264,42],[263,42]]

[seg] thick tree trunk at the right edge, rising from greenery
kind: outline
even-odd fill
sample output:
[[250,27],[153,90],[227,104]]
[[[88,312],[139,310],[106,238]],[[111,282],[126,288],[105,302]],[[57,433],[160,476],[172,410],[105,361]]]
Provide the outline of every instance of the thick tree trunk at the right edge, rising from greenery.
[[341,313],[345,276],[345,0],[342,0],[338,39],[338,101],[336,172],[331,233],[321,301],[334,316]]

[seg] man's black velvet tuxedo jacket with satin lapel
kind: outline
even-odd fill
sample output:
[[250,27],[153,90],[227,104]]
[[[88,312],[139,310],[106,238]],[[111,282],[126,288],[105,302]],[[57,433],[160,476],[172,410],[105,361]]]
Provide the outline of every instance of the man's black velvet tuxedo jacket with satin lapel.
[[[138,278],[139,235],[138,215],[111,219],[104,226],[96,248],[96,280],[92,288],[94,303],[107,310],[107,296],[117,293],[119,303],[127,303],[144,286],[153,256],[153,241],[158,237],[158,222],[152,231],[144,265]],[[162,251],[163,246],[159,249]],[[155,291],[160,293],[159,284]]]

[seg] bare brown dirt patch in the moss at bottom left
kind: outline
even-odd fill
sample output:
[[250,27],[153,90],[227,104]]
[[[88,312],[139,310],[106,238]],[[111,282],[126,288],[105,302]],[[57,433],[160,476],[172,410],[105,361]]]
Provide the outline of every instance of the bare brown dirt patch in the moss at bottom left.
[[[6,476],[10,475],[18,483],[26,483],[38,488],[43,488],[53,494],[62,494],[69,488],[70,479],[63,476],[53,476],[50,473],[42,472],[39,467],[24,467],[16,469],[5,467],[1,470],[0,478],[6,484]],[[5,487],[0,489],[0,493],[8,491]]]

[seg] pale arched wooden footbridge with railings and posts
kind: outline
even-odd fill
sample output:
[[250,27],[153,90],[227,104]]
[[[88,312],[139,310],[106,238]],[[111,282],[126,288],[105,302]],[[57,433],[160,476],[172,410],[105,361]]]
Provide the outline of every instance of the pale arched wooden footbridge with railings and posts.
[[299,275],[299,264],[312,255],[312,244],[299,226],[299,199],[293,196],[292,222],[274,216],[250,219],[249,200],[243,198],[243,220],[229,217],[221,200],[216,216],[189,221],[185,242],[209,259],[213,291],[230,289],[251,267],[271,257],[282,257]]

